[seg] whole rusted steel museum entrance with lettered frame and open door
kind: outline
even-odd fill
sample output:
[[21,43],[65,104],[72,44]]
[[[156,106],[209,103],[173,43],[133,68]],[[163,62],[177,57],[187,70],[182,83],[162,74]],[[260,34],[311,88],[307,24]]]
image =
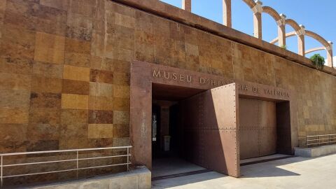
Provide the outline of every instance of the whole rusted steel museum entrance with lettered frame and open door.
[[[271,144],[276,140],[276,153],[292,154],[293,146],[297,144],[296,100],[290,90],[134,61],[131,63],[130,93],[133,165],[146,165],[153,170],[155,158],[182,156],[188,162],[211,171],[239,177],[239,99],[275,102],[276,139],[273,137]],[[183,141],[177,142],[179,148],[183,146],[182,152],[176,150],[174,127],[171,130],[166,127],[166,133],[158,134],[158,129],[162,130],[163,111],[160,107],[160,113],[157,111],[152,115],[153,110],[159,109],[158,104],[152,103],[155,101],[169,102],[172,106],[177,104],[179,111],[171,110],[170,106],[166,110],[172,115],[178,112],[179,118],[167,118],[171,123],[182,120],[181,124],[174,124],[178,130],[183,128],[183,132],[177,132],[183,136]],[[152,116],[156,119],[153,120]],[[157,133],[152,132],[153,123]],[[164,141],[169,144],[168,152]],[[259,153],[262,148],[258,146],[258,156],[262,155]],[[267,154],[273,152],[274,145],[266,151]],[[257,155],[246,157],[253,156]]]

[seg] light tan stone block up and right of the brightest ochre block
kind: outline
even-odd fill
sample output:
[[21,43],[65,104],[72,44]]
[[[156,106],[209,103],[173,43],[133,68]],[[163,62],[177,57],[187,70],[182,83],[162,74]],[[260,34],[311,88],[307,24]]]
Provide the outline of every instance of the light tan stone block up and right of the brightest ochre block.
[[98,97],[113,97],[113,84],[90,82],[90,95]]

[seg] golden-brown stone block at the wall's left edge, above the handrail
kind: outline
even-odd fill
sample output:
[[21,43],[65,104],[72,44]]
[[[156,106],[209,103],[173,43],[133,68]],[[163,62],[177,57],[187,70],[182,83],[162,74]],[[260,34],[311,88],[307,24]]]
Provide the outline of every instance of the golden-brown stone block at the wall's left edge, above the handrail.
[[27,109],[0,109],[0,123],[25,124],[28,123]]

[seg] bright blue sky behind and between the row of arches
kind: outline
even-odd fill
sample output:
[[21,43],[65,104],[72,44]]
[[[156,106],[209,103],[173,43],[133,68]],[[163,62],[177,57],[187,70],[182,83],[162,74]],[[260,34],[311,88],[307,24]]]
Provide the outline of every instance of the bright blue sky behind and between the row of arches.
[[[162,0],[181,8],[182,0]],[[325,40],[334,42],[336,47],[336,1],[335,0],[262,0],[263,6],[271,6],[278,13],[295,20],[299,25],[321,35]],[[215,22],[223,23],[222,0],[192,0],[192,12],[209,18]],[[232,0],[232,27],[246,34],[253,35],[253,13],[242,0]],[[286,32],[293,31],[286,26]],[[272,41],[277,36],[276,22],[267,14],[262,14],[262,39]],[[297,52],[297,37],[287,38],[287,49]],[[306,50],[321,47],[321,43],[306,36]],[[320,53],[326,57],[325,50],[312,52],[307,57]]]

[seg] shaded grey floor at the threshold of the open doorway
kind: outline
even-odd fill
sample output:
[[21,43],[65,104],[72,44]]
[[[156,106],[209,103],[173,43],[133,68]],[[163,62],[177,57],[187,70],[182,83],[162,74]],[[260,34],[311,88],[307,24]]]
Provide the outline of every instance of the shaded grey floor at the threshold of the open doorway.
[[205,170],[182,158],[157,158],[152,162],[152,178]]

